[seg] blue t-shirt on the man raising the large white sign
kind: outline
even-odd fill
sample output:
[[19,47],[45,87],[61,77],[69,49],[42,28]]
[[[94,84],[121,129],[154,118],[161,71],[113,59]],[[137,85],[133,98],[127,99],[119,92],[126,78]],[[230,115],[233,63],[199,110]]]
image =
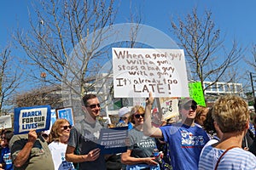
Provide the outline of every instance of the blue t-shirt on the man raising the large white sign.
[[177,123],[160,127],[166,143],[167,156],[171,157],[173,170],[198,169],[201,150],[209,138],[201,127]]

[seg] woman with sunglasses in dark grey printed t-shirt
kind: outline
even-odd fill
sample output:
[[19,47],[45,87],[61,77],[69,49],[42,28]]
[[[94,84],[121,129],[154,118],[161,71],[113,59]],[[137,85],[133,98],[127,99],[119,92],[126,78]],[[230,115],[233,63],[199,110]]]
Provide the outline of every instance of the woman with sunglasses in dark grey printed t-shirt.
[[129,131],[130,146],[121,156],[121,161],[128,170],[160,169],[153,157],[153,150],[156,148],[155,140],[143,134],[144,114],[143,106],[136,105],[131,109],[131,122],[135,127]]

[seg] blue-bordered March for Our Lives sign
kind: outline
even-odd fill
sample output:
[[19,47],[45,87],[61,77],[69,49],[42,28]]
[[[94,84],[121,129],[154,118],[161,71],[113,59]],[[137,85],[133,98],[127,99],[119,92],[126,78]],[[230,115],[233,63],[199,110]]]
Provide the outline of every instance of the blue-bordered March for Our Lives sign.
[[31,129],[48,130],[49,124],[49,105],[15,108],[15,134],[28,133]]

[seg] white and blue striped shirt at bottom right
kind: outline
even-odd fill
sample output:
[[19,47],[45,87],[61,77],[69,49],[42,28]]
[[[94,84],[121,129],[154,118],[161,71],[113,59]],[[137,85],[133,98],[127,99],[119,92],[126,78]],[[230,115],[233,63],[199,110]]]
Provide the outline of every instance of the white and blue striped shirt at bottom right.
[[[214,170],[218,158],[224,153],[224,150],[213,148],[209,145],[201,153],[199,161],[199,170]],[[241,148],[233,148],[221,158],[218,164],[218,170],[255,170],[256,157],[249,151]]]

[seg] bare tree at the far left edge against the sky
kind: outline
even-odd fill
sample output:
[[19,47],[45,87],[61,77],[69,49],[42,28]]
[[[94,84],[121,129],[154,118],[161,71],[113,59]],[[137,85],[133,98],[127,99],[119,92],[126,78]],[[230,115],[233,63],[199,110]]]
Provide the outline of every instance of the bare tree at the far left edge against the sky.
[[22,70],[19,69],[11,56],[10,46],[3,48],[0,58],[0,115],[13,109],[12,94],[20,86]]

